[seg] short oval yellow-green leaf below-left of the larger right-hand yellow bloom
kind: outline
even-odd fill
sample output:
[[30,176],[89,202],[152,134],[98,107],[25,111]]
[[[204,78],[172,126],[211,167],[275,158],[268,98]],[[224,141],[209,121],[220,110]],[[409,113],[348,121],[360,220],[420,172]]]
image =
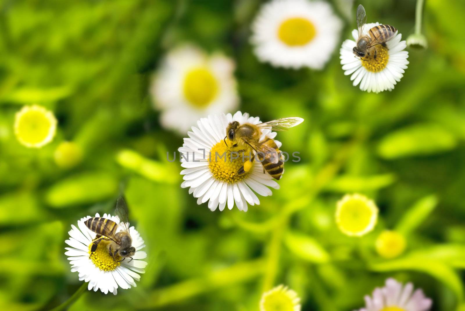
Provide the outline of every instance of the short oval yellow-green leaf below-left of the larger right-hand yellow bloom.
[[328,252],[317,240],[297,232],[288,232],[285,237],[287,248],[301,259],[313,263],[326,263],[330,260]]

